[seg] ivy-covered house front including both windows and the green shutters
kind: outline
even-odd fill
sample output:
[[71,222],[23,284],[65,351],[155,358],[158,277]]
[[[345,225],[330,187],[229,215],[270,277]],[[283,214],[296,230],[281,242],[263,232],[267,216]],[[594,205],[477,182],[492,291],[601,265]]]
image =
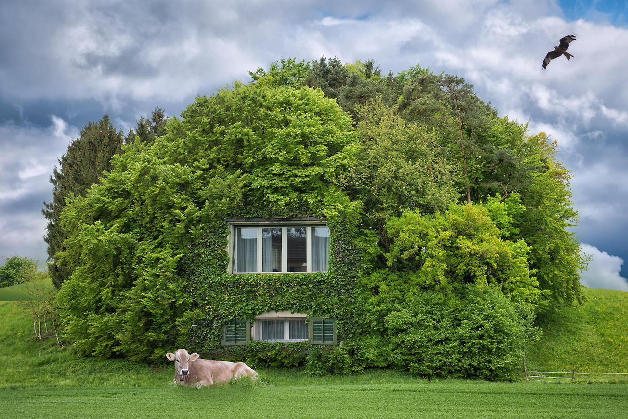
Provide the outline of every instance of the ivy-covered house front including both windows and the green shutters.
[[[332,346],[354,334],[359,267],[350,266],[357,252],[346,226],[324,217],[227,218],[222,224],[226,246],[214,248],[222,253],[222,263],[214,264],[224,269],[221,275],[208,280],[199,268],[207,266],[203,258],[193,257],[207,305],[200,304],[194,319],[192,345],[206,351],[249,342]],[[198,253],[212,258],[210,250]]]

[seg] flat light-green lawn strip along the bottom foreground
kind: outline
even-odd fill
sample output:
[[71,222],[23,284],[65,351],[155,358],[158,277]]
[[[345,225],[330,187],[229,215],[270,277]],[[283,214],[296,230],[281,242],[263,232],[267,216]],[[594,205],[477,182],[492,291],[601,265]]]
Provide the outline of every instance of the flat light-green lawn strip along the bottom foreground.
[[[6,418],[619,418],[628,386],[435,381],[3,389]],[[3,416],[4,415],[4,416]]]

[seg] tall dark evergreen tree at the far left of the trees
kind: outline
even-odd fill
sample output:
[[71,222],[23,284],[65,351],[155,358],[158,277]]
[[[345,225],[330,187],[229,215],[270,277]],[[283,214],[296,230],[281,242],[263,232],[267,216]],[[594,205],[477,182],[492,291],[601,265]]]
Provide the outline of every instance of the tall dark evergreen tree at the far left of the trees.
[[44,241],[48,245],[48,272],[57,288],[61,287],[70,272],[55,260],[55,255],[64,250],[63,241],[67,234],[60,224],[60,215],[66,200],[71,195],[84,196],[98,182],[105,170],[111,170],[111,158],[120,153],[122,131],[105,115],[98,122],[89,122],[80,137],[73,140],[50,175],[53,185],[51,202],[44,202],[42,214],[48,220]]

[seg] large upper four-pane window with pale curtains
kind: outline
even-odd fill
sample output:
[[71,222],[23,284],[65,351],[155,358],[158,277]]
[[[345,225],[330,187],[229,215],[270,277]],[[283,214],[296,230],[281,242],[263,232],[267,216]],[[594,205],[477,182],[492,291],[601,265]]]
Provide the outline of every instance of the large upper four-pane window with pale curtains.
[[329,229],[322,222],[259,224],[232,225],[233,273],[327,271]]

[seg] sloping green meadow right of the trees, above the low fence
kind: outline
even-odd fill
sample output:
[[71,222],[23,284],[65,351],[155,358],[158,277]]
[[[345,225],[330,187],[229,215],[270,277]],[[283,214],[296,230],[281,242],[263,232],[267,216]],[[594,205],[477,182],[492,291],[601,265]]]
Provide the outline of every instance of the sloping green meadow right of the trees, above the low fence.
[[588,301],[545,318],[528,369],[628,373],[628,292],[585,289]]

